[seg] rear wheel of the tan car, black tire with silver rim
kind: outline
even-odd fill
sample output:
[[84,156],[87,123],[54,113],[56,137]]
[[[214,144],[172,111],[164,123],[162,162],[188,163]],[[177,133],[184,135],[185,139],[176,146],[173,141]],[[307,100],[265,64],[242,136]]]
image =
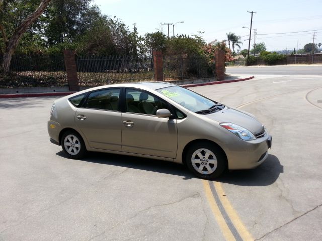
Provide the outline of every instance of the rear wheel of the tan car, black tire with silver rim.
[[[65,139],[69,144],[65,145]],[[83,138],[75,131],[64,132],[60,143],[62,150],[70,159],[81,159],[87,153]]]

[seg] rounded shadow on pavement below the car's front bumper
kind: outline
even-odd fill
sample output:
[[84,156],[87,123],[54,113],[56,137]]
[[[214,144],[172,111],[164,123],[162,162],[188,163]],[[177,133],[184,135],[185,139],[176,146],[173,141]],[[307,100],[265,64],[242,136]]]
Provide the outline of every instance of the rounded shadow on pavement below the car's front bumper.
[[266,161],[259,167],[251,170],[229,171],[216,181],[237,186],[268,186],[273,184],[283,172],[284,167],[279,159],[269,154]]

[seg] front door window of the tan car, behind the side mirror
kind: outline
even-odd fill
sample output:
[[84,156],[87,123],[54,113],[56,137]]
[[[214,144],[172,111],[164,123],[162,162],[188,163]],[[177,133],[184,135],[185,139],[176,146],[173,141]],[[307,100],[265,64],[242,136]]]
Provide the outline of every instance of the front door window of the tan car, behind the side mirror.
[[156,110],[167,109],[168,104],[145,91],[126,89],[126,112],[156,115]]

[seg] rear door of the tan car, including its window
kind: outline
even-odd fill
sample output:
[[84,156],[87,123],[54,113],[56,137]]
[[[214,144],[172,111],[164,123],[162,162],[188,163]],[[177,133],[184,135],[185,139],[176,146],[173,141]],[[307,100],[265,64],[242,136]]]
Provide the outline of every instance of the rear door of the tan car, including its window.
[[121,88],[107,88],[91,92],[75,115],[76,126],[92,148],[122,151]]

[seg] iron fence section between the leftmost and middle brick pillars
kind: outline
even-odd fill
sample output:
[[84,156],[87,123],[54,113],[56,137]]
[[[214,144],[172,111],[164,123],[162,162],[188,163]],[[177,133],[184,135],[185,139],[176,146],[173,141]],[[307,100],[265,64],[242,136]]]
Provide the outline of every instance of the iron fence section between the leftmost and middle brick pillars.
[[80,86],[154,81],[152,56],[77,56],[76,66]]

